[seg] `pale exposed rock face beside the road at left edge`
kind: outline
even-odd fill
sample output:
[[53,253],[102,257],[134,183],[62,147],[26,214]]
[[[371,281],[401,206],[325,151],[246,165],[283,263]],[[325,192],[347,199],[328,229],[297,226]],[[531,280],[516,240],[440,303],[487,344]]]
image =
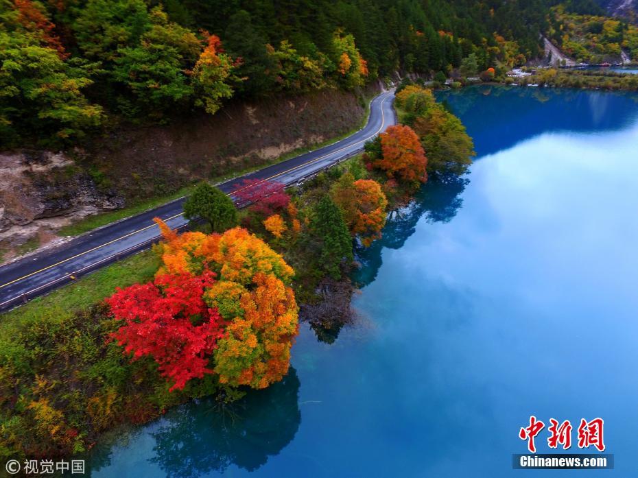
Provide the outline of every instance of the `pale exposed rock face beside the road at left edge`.
[[3,260],[55,237],[73,219],[123,206],[62,153],[0,154],[0,250]]

